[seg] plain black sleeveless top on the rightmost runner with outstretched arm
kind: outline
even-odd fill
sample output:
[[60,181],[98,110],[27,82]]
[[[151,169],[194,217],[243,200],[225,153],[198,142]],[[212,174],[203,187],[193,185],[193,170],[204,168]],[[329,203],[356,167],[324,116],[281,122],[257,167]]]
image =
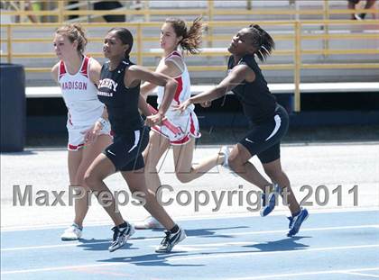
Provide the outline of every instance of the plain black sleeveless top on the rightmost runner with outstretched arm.
[[[234,62],[235,59],[231,56],[227,63],[228,72],[235,67]],[[276,98],[271,94],[254,55],[246,55],[238,61],[237,65],[247,65],[255,73],[254,82],[249,83],[244,80],[241,85],[232,90],[241,102],[245,116],[253,123],[266,122],[272,119],[276,107]]]

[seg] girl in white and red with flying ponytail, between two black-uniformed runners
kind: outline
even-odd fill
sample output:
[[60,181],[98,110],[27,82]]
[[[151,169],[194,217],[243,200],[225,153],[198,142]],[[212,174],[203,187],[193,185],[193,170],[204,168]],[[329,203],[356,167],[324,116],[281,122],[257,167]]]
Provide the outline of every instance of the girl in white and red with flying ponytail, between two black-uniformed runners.
[[[145,160],[146,182],[149,189],[154,193],[162,185],[156,167],[162,155],[171,145],[175,174],[181,183],[189,183],[199,176],[203,176],[213,167],[226,162],[227,149],[223,147],[214,156],[201,160],[197,165],[192,165],[195,139],[200,137],[198,118],[193,111],[195,106],[189,106],[182,113],[176,110],[181,103],[190,97],[189,72],[178,49],[187,50],[192,54],[198,53],[201,36],[201,18],[195,19],[189,29],[184,21],[174,18],[167,19],[162,25],[161,48],[163,56],[155,71],[173,77],[178,82],[176,94],[165,117],[174,126],[179,127],[182,133],[175,134],[164,124],[152,128],[149,145],[143,151],[143,158]],[[153,91],[154,87],[155,85],[151,83],[144,83],[141,87],[143,97]],[[162,96],[162,88],[158,87],[158,106],[161,104]],[[208,106],[209,104],[203,105]],[[134,226],[137,229],[161,227],[160,223],[153,217],[137,222]]]

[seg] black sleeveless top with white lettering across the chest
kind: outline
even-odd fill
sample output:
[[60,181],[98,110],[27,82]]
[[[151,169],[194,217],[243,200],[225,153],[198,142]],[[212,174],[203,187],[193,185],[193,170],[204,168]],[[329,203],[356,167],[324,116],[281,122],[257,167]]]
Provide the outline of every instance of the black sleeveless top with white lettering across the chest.
[[123,134],[143,127],[143,120],[138,112],[140,85],[126,87],[125,69],[133,65],[128,59],[120,62],[116,69],[109,70],[109,61],[101,68],[97,97],[106,104],[112,131]]

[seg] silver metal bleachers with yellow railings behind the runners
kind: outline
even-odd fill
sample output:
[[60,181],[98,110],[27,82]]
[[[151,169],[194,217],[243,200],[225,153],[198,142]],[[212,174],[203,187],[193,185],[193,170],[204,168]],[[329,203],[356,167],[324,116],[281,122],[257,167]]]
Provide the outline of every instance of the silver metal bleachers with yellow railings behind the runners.
[[[60,23],[2,23],[1,62],[23,64],[28,98],[59,96],[50,76],[56,61],[52,34],[75,13],[79,14],[77,20],[86,20],[82,25],[88,31],[89,55],[103,62],[100,50],[106,31],[125,26],[134,32],[132,59],[152,69],[161,55],[157,48],[162,21],[179,16],[190,22],[202,14],[208,23],[204,51],[186,60],[194,93],[225,77],[225,48],[233,34],[250,23],[259,23],[273,35],[276,50],[262,65],[264,75],[273,93],[295,93],[295,111],[300,111],[300,93],[352,88],[379,92],[379,20],[350,21],[345,0],[142,1],[140,5],[129,1],[125,9],[117,11],[92,11],[90,5],[95,1],[80,1],[86,3],[86,9],[68,11],[65,2],[57,2],[56,9],[50,11],[34,12],[54,15]],[[2,16],[6,13],[15,14],[5,12]],[[17,13],[25,19],[28,14]],[[377,14],[378,6],[370,13]],[[99,23],[102,14],[125,14],[127,22]]]

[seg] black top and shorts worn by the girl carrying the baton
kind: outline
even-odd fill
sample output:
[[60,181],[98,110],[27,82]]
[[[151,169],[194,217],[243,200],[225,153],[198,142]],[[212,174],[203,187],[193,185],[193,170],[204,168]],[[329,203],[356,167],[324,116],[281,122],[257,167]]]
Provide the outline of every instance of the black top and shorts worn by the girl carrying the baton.
[[142,151],[149,141],[149,131],[143,126],[138,111],[140,85],[125,87],[124,84],[125,69],[132,65],[134,64],[129,59],[124,59],[116,69],[109,70],[107,61],[101,68],[97,92],[100,102],[106,104],[109,122],[115,134],[114,143],[104,153],[120,171],[143,168]]

